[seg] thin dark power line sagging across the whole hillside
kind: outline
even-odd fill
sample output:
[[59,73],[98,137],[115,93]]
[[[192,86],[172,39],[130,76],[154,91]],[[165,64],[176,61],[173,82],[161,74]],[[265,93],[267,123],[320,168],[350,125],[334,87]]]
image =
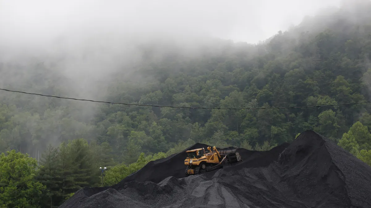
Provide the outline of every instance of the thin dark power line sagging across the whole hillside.
[[22,92],[22,91],[7,90],[7,89],[2,89],[2,88],[0,88],[0,90],[14,92],[14,93],[40,95],[40,96],[44,96],[44,97],[55,97],[55,98],[69,99],[69,100],[89,101],[89,102],[95,102],[95,103],[137,105],[137,106],[144,106],[144,107],[160,107],[160,108],[188,108],[188,109],[209,109],[209,110],[212,110],[212,109],[218,109],[218,110],[259,110],[259,109],[315,108],[315,107],[329,107],[329,106],[339,106],[339,105],[353,105],[353,104],[371,103],[371,101],[363,101],[363,102],[357,102],[357,103],[342,103],[342,104],[332,104],[332,105],[310,105],[310,106],[299,106],[299,107],[206,108],[206,107],[180,107],[180,106],[168,106],[168,105],[144,105],[144,104],[114,103],[114,102],[108,102],[108,101],[96,101],[96,100],[86,100],[86,99],[78,99],[78,98],[70,98],[70,97],[59,97],[59,96],[54,96],[54,95],[43,95],[43,94],[37,94],[37,93],[26,93],[26,92]]

